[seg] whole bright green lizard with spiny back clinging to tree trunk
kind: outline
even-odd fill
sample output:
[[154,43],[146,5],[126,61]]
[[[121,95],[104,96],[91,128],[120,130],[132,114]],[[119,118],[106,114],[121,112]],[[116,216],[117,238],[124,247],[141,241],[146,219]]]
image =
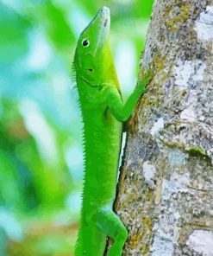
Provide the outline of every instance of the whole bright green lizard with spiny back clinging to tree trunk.
[[130,117],[150,76],[145,75],[124,105],[109,32],[110,10],[103,7],[79,36],[74,56],[85,138],[85,181],[76,256],[102,256],[107,237],[113,240],[108,255],[121,255],[128,238],[126,227],[112,210],[122,122]]

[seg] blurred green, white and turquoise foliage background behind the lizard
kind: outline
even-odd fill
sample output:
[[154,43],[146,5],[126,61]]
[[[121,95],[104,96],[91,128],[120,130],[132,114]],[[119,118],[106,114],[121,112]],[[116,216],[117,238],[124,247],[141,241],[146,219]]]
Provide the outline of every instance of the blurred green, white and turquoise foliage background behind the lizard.
[[78,35],[110,7],[110,45],[127,99],[152,4],[0,1],[0,255],[72,255],[83,178],[71,69]]

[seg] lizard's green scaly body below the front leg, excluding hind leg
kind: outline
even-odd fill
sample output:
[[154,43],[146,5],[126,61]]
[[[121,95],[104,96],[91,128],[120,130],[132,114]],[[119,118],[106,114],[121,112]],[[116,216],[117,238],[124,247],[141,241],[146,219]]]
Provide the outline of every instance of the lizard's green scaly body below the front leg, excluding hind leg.
[[83,118],[85,181],[76,255],[101,256],[106,235],[97,227],[95,215],[105,205],[112,207],[116,195],[122,124],[110,112],[83,112]]

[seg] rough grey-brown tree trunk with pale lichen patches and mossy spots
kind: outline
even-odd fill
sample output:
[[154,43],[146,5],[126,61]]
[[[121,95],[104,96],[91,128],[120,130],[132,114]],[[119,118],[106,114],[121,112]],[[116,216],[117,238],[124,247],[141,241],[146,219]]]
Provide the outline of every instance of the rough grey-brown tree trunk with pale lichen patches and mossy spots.
[[115,204],[123,255],[213,255],[213,0],[156,0]]

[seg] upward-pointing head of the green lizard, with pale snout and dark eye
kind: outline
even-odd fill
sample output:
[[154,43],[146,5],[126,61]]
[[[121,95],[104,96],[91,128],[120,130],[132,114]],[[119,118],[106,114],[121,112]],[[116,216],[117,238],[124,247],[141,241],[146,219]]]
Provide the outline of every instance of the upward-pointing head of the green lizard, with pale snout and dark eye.
[[[74,56],[77,76],[90,86],[98,86],[110,51],[110,9],[103,7],[83,30]],[[104,61],[106,60],[106,61]]]

